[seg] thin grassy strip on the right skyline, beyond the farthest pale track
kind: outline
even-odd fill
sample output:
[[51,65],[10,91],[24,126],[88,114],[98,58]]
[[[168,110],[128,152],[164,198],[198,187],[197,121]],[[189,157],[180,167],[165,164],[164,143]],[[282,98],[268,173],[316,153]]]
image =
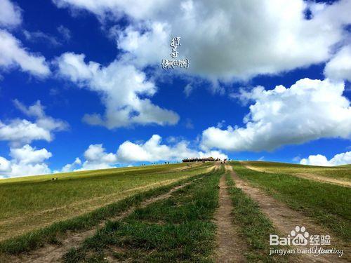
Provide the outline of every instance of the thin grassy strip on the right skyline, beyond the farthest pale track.
[[351,165],[345,166],[303,166],[293,163],[275,163],[268,161],[243,161],[244,166],[267,173],[311,174],[336,178],[351,182]]

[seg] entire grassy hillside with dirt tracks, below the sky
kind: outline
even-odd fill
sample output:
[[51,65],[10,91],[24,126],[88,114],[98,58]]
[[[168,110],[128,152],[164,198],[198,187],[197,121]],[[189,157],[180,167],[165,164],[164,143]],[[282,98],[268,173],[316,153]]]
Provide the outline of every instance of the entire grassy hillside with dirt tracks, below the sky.
[[298,225],[351,260],[351,191],[335,183],[350,171],[237,161],[1,180],[0,262],[310,262],[269,255],[270,234]]

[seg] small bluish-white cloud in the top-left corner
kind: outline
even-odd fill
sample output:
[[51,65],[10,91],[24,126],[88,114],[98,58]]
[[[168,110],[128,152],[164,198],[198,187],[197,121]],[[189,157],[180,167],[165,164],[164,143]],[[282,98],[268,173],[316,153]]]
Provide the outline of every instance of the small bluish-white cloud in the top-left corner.
[[0,26],[14,27],[20,25],[22,15],[20,8],[8,0],[0,0]]

